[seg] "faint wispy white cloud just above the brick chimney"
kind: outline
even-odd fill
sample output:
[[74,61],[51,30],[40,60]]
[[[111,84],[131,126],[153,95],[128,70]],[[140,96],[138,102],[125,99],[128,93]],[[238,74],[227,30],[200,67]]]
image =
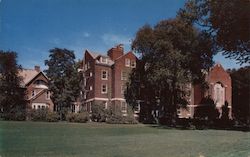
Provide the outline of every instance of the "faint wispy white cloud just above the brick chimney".
[[131,44],[131,37],[121,34],[105,33],[101,36],[103,42],[108,46],[114,46],[117,44],[124,44],[126,46]]

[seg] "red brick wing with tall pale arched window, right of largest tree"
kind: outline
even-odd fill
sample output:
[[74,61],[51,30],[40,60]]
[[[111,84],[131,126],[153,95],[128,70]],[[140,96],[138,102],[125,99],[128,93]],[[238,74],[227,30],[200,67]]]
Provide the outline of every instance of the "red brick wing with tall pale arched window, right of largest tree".
[[208,89],[202,88],[200,84],[190,85],[191,93],[187,108],[178,111],[180,118],[193,118],[195,108],[208,104],[202,104],[205,97],[211,98],[220,116],[222,107],[226,104],[229,109],[229,118],[232,118],[232,84],[230,75],[223,69],[221,64],[215,64],[206,74]]

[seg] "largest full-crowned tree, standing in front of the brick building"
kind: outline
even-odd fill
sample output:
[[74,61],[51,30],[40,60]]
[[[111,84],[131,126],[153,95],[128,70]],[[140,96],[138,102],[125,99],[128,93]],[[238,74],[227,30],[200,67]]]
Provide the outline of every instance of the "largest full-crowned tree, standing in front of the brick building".
[[[154,28],[142,27],[132,48],[140,55],[141,65],[137,64],[132,72],[125,97],[143,100],[142,109],[148,108],[149,113],[155,112],[158,118],[174,119],[177,106],[187,104],[186,85],[201,82],[201,69],[213,64],[209,34],[178,18],[160,21]],[[140,79],[139,83],[133,80],[135,77]],[[136,88],[138,90],[134,91]],[[135,104],[135,101],[130,102]]]

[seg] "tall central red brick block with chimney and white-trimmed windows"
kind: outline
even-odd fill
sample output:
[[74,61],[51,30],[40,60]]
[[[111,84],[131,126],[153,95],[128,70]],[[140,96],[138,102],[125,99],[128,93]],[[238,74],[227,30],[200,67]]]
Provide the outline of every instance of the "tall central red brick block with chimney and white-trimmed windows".
[[88,50],[84,53],[84,106],[91,112],[91,105],[104,105],[127,113],[124,90],[129,73],[136,66],[132,52],[124,53],[122,45],[108,50],[107,55]]

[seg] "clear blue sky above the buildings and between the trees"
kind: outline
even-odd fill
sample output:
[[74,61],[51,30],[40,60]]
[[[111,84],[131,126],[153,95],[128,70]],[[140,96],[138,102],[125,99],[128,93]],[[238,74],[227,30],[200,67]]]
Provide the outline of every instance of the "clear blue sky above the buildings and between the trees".
[[[0,0],[0,49],[18,53],[24,68],[45,68],[49,49],[74,50],[82,59],[85,49],[105,53],[131,40],[145,24],[174,18],[185,0]],[[235,61],[218,54],[225,68]]]

